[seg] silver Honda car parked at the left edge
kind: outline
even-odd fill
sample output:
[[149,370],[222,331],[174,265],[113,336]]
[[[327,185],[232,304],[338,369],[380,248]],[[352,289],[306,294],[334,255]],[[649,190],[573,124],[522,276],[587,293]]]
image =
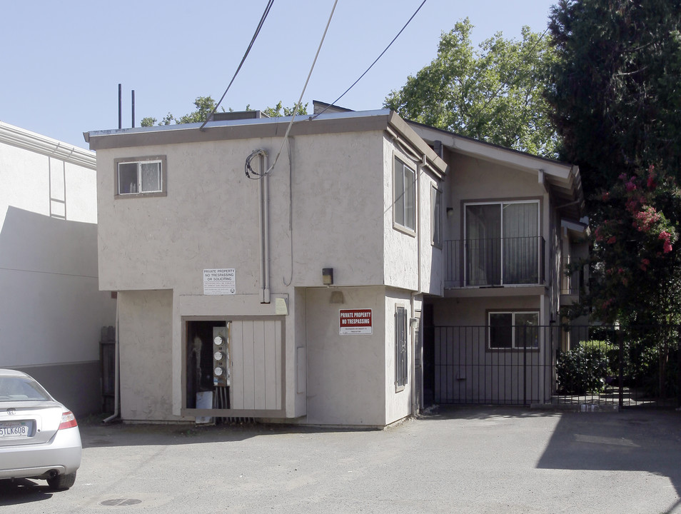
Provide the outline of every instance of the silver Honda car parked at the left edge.
[[31,376],[0,369],[0,480],[47,480],[68,489],[81,465],[76,416]]

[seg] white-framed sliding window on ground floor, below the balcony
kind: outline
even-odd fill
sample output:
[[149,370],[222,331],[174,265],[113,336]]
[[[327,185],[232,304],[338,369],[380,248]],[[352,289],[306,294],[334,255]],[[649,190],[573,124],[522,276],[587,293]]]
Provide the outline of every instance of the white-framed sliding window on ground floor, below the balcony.
[[490,312],[488,313],[488,348],[513,350],[539,348],[539,313]]

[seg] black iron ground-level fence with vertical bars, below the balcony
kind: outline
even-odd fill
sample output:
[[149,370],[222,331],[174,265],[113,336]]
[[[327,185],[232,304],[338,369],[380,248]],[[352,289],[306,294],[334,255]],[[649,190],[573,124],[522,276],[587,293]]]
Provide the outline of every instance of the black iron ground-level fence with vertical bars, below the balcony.
[[680,326],[514,326],[533,344],[508,348],[497,329],[435,327],[435,403],[681,405]]

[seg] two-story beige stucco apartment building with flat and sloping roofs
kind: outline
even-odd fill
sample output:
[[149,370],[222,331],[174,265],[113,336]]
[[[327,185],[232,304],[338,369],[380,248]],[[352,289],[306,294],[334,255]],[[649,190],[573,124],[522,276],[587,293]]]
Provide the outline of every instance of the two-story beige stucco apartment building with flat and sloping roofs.
[[[577,168],[387,110],[298,116],[286,141],[291,118],[251,116],[85,135],[123,420],[385,426],[427,384],[443,399],[424,323],[555,321]],[[518,353],[502,332],[476,351]]]

